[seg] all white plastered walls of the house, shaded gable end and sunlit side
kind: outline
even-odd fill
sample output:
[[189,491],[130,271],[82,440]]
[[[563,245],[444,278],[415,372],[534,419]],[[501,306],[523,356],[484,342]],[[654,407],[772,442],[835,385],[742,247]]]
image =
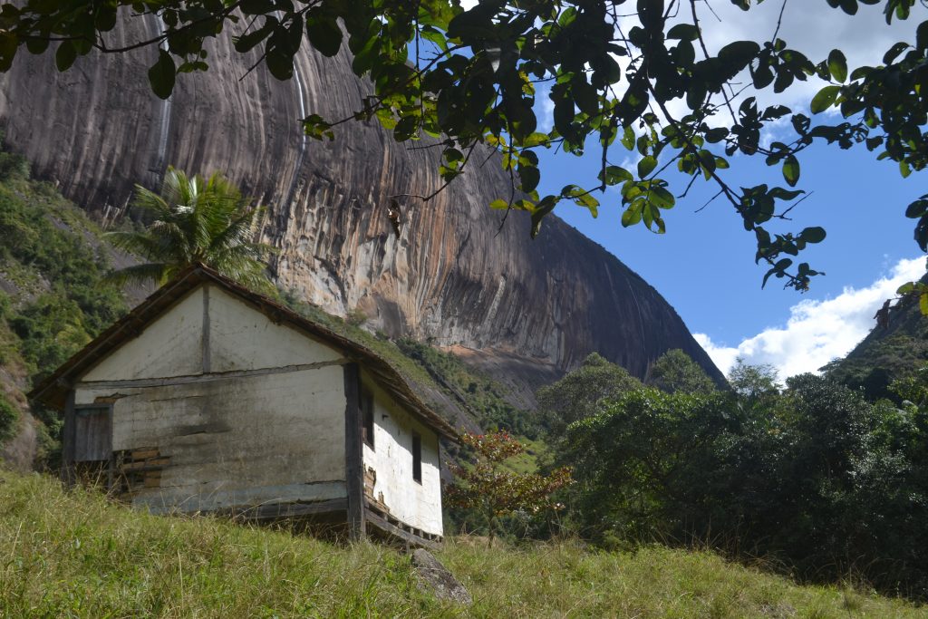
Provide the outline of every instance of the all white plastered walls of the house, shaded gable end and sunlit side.
[[[209,372],[203,374],[207,343]],[[204,286],[86,372],[75,401],[81,406],[114,399],[113,449],[157,447],[169,458],[161,486],[141,490],[135,505],[196,511],[341,498],[346,496],[344,377],[337,365],[342,361],[340,351],[274,324],[225,290]],[[292,368],[320,363],[332,365]],[[275,368],[289,369],[219,375]],[[112,386],[151,379],[168,380]],[[393,517],[442,535],[436,433],[369,376],[363,380],[375,397],[376,448],[365,445],[363,454],[365,467],[377,471],[374,496],[382,495]],[[413,432],[422,439],[421,484],[412,478]]]

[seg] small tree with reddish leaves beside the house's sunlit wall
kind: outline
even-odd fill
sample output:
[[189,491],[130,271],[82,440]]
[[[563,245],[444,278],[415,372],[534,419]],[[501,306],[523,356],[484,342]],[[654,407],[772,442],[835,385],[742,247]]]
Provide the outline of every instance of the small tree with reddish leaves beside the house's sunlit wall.
[[477,461],[472,466],[448,463],[448,468],[458,479],[445,489],[445,497],[450,505],[476,509],[483,514],[489,530],[489,546],[493,546],[501,516],[519,510],[537,513],[542,509],[561,509],[551,495],[572,483],[569,467],[551,471],[548,475],[503,469],[502,464],[507,458],[525,450],[508,432],[465,433],[461,436],[461,443],[476,452]]

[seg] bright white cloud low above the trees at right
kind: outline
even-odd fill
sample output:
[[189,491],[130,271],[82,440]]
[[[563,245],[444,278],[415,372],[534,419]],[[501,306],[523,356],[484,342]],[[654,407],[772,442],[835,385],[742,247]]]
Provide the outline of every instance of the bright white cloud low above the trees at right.
[[737,357],[749,364],[772,365],[780,379],[815,372],[847,355],[874,327],[873,314],[883,302],[896,296],[903,283],[924,273],[924,257],[900,260],[887,276],[866,288],[845,288],[833,299],[796,303],[785,326],[765,329],[736,347],[717,344],[704,333],[693,337],[725,374]]

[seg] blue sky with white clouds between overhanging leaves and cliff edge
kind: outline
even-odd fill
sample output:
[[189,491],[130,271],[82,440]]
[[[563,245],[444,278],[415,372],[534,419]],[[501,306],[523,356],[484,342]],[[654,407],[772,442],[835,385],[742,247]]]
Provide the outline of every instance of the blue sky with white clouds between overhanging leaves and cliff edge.
[[[718,20],[707,11],[701,15],[710,47],[717,50],[732,40],[768,37],[780,6],[768,0],[742,13],[727,2],[713,3]],[[919,6],[908,22],[886,27],[880,7],[860,8],[856,17],[848,18],[823,0],[789,3],[780,37],[813,61],[841,47],[856,67],[879,63],[897,40],[912,40],[909,33],[928,17]],[[807,109],[821,85],[804,84],[785,99],[771,93],[762,103]],[[621,150],[616,148],[613,162],[622,162]],[[876,161],[865,148],[817,147],[806,151],[801,162],[799,187],[812,195],[793,211],[792,222],[777,229],[798,232],[820,225],[828,231],[823,243],[800,256],[827,274],[815,277],[812,289],[802,295],[783,290],[776,279],[761,290],[765,270],[754,264],[754,236],[744,231],[737,213],[721,200],[696,213],[717,190],[708,184],[697,183],[667,213],[665,235],[654,235],[643,226],[623,228],[621,199],[614,192],[599,196],[597,219],[572,204],[559,206],[556,213],[659,290],[723,371],[741,355],[749,362],[774,365],[785,378],[846,354],[872,326],[875,308],[899,283],[924,272],[924,255],[912,240],[914,222],[904,216],[909,201],[926,192],[923,174],[903,179],[896,164]],[[580,159],[546,152],[539,190],[556,193],[568,183],[593,184],[598,169],[595,151]],[[676,183],[675,194],[681,193],[686,178],[677,173],[665,176]],[[731,159],[727,179],[736,186],[784,185],[779,168],[743,156]]]

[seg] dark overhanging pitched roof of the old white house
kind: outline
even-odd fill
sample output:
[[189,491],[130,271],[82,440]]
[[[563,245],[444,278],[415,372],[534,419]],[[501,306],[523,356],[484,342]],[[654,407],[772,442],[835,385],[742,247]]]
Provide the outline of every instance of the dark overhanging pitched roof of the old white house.
[[95,366],[98,361],[110,355],[122,343],[138,335],[142,329],[148,326],[148,323],[161,316],[181,297],[206,283],[220,286],[277,324],[286,324],[302,331],[311,338],[326,342],[342,350],[350,359],[363,364],[363,367],[374,377],[374,380],[377,380],[399,405],[404,406],[436,432],[452,440],[458,440],[458,432],[455,431],[454,427],[429,406],[426,406],[412,387],[409,386],[403,375],[396,368],[393,368],[386,359],[367,348],[367,346],[354,342],[354,340],[346,338],[305,316],[300,316],[290,308],[262,294],[248,290],[203,264],[195,264],[189,267],[153,292],[129,314],[122,316],[109,329],[100,333],[93,342],[90,342],[80,352],[71,356],[51,376],[36,385],[32,392],[29,393],[29,397],[48,406],[58,409],[64,408],[65,396],[71,389],[71,383],[76,377],[84,374],[86,370]]

